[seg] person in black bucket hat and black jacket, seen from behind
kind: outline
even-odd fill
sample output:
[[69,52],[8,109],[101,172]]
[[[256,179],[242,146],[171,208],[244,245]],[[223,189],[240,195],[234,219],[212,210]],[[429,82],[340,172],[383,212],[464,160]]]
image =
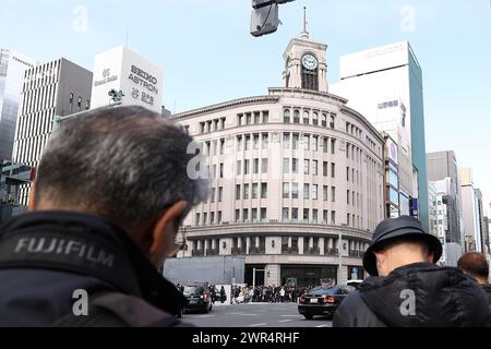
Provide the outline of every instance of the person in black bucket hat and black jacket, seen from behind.
[[363,257],[371,275],[334,315],[334,327],[490,326],[484,291],[457,268],[440,267],[440,240],[418,219],[385,219]]

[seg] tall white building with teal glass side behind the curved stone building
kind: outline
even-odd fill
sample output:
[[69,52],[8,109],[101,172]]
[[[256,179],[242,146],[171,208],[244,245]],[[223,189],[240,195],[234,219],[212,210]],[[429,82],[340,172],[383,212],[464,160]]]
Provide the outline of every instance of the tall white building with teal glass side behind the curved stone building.
[[409,43],[342,56],[340,82],[331,91],[397,143],[400,206],[410,204],[410,214],[428,230],[422,71]]

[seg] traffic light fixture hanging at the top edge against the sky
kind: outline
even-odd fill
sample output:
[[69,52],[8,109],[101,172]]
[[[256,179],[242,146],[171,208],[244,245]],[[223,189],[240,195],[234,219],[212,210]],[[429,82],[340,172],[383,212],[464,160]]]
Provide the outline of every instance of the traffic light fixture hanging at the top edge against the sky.
[[282,3],[295,0],[252,0],[251,34],[263,36],[274,33],[279,26],[279,10]]

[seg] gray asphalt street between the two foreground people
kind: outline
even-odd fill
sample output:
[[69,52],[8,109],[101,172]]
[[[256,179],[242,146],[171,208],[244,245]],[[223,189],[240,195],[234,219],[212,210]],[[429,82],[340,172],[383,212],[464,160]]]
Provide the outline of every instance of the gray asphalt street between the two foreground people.
[[182,322],[199,327],[332,327],[327,318],[306,320],[292,303],[217,305],[209,314],[184,314]]

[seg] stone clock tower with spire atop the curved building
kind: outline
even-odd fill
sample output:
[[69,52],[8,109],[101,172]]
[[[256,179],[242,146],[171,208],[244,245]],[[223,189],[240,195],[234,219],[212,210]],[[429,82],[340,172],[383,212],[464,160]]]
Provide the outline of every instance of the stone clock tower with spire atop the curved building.
[[285,87],[303,88],[327,93],[327,45],[310,40],[307,32],[307,15],[300,37],[288,44],[283,58]]

